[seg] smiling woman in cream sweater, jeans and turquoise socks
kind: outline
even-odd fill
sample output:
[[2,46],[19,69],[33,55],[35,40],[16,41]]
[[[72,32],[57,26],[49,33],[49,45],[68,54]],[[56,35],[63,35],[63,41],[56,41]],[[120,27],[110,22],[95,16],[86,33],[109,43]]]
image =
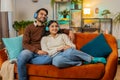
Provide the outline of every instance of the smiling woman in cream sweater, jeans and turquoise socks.
[[48,52],[48,55],[52,57],[52,64],[59,68],[79,66],[83,62],[106,63],[106,59],[103,57],[92,57],[76,50],[69,37],[59,31],[59,25],[54,20],[49,21],[46,27],[46,33],[41,40],[41,48]]

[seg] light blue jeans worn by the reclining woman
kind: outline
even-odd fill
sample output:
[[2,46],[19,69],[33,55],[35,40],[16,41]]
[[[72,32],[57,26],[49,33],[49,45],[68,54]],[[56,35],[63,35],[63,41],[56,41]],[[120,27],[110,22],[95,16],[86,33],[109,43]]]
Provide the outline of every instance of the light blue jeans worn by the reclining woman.
[[74,48],[69,48],[53,57],[52,64],[59,68],[81,65],[82,61],[91,62],[92,56]]

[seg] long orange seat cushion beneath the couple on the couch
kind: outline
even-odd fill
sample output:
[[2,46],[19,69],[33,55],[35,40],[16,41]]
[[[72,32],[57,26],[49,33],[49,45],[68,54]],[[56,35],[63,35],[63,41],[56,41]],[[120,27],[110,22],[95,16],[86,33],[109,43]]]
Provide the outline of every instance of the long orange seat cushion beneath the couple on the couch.
[[[28,74],[32,76],[54,77],[54,78],[91,78],[99,79],[104,75],[105,66],[102,63],[74,66],[59,69],[52,65],[28,64]],[[17,67],[15,66],[15,73]]]

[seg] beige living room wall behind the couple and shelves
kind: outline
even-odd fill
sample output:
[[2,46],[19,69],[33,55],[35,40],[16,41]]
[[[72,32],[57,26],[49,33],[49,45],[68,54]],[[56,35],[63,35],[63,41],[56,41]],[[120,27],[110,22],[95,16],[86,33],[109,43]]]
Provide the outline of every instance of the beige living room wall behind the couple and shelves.
[[[112,18],[115,13],[120,12],[120,8],[118,7],[120,0],[84,0],[83,7],[90,7],[91,10],[94,12],[95,8],[99,8],[99,11],[104,9],[108,9],[111,11],[110,17]],[[14,18],[13,21],[17,20],[34,20],[33,15],[36,10],[39,8],[46,8],[49,11],[48,19],[53,19],[53,11],[50,5],[50,0],[38,0],[38,2],[33,2],[32,0],[15,0],[15,11],[13,11]],[[93,15],[94,17],[94,15]],[[113,25],[114,27],[114,25]],[[120,34],[120,30],[116,32],[113,29],[113,34],[117,35]]]

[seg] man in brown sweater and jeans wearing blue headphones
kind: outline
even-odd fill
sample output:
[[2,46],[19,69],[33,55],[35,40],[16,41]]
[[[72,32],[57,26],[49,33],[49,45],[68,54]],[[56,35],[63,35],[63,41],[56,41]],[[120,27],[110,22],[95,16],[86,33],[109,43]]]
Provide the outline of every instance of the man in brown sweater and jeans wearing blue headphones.
[[[41,50],[40,40],[45,29],[48,11],[45,8],[39,9],[34,17],[36,21],[26,27],[23,35],[24,50],[18,56],[18,76],[19,80],[28,80],[27,63],[31,64],[51,64],[52,58],[48,56],[46,51]],[[69,37],[73,40],[74,35],[69,30],[63,30],[69,33]]]

